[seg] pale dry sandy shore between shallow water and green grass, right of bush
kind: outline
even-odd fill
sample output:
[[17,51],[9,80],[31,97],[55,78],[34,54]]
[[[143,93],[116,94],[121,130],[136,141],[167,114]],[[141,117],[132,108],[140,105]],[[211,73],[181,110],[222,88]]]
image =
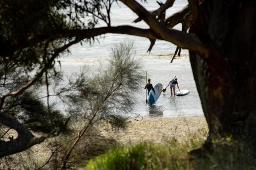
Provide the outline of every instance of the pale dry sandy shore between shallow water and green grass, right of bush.
[[208,127],[203,116],[197,117],[143,117],[129,118],[126,130],[117,131],[105,128],[104,136],[113,137],[120,143],[137,143],[139,141],[164,142],[176,138],[185,141],[189,136],[198,133],[204,137]]

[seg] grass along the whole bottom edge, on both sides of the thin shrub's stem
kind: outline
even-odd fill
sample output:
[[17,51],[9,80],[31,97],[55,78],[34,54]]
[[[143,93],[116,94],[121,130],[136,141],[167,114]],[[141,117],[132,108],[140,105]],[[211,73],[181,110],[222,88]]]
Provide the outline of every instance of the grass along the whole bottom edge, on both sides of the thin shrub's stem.
[[[73,159],[77,164],[72,168],[89,170],[256,169],[255,144],[244,139],[235,140],[232,136],[226,136],[212,139],[210,148],[206,149],[201,147],[208,135],[207,129],[201,128],[196,132],[188,132],[187,135],[182,136],[184,140],[179,139],[180,131],[177,129],[179,130],[178,127],[175,127],[174,138],[170,140],[164,138],[161,144],[142,141],[135,144],[122,144],[110,150],[108,148],[116,146],[116,143],[108,145],[107,140],[98,140],[97,138],[92,140],[90,138],[87,141],[84,139],[81,148],[76,150],[81,154],[74,155]],[[98,131],[95,134],[98,134]],[[137,132],[135,134],[137,135]],[[91,144],[86,150],[82,150],[82,146],[86,142]],[[39,145],[38,148],[33,147],[28,153],[23,152],[1,159],[0,169],[8,169],[8,167],[13,167],[10,169],[36,169],[48,158],[47,153],[50,150],[45,149],[47,143],[44,143],[44,147]],[[196,149],[199,149],[199,152],[194,152]],[[90,159],[92,157],[93,159]],[[53,161],[52,163],[60,162]],[[49,164],[45,169],[55,168]]]

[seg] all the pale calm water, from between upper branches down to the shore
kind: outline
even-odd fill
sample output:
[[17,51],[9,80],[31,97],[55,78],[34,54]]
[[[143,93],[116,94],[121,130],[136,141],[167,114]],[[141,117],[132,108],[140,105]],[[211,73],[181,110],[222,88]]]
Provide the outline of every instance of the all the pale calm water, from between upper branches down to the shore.
[[[148,10],[158,8],[156,1],[147,1],[143,4]],[[187,1],[177,0],[174,7],[167,11],[167,15],[182,9],[187,4]],[[112,25],[131,25],[140,28],[147,28],[144,22],[132,23],[136,18],[130,9],[119,3],[115,5],[112,10]],[[102,23],[100,26],[104,26]],[[99,27],[100,27],[99,26]],[[178,25],[176,29],[181,29]],[[144,84],[141,89],[134,96],[136,105],[134,106],[131,114],[148,115],[148,116],[198,116],[203,115],[200,99],[196,90],[195,81],[193,78],[191,66],[188,57],[177,58],[173,64],[169,64],[170,58],[156,57],[152,55],[145,55],[150,41],[146,38],[106,34],[105,36],[98,37],[99,42],[95,41],[93,45],[84,44],[83,46],[76,44],[71,47],[71,54],[63,55],[61,57],[62,70],[66,74],[71,74],[72,71],[87,65],[91,70],[97,70],[101,64],[106,64],[106,58],[110,53],[110,48],[121,41],[134,41],[137,47],[137,56],[140,58],[142,64],[142,74],[146,74],[147,78],[151,78],[152,84],[162,83],[163,88],[166,87],[168,82],[174,76],[178,77],[180,89],[188,89],[190,93],[186,96],[170,96],[170,90],[167,88],[165,93],[162,93],[155,107],[149,107],[145,103],[145,89]],[[172,43],[158,40],[152,50],[152,53],[174,53],[176,46]],[[182,51],[187,54],[187,51]],[[141,57],[143,56],[143,57]],[[146,80],[144,80],[146,82]]]

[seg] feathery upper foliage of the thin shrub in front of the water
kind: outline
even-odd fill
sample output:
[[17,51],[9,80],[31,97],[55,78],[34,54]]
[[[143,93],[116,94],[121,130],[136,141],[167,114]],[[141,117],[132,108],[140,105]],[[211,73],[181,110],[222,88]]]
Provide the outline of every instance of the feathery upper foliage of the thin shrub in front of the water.
[[[132,106],[132,95],[139,88],[143,76],[140,75],[140,65],[135,58],[133,43],[120,43],[112,49],[109,65],[92,78],[82,72],[77,79],[69,79],[70,86],[61,90],[69,91],[65,103],[72,103],[71,113],[83,113],[90,116],[97,112],[99,119],[111,119],[115,122],[115,113],[126,113]],[[75,105],[74,105],[75,104]],[[120,114],[119,114],[120,115]],[[118,115],[115,115],[118,117]]]

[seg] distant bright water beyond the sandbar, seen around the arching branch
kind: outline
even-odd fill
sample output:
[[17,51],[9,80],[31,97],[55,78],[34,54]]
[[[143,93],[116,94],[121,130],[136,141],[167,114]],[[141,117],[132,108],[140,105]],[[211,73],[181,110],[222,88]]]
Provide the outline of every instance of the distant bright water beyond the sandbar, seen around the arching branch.
[[[141,1],[138,0],[138,2]],[[141,4],[147,10],[154,10],[159,7],[155,0],[147,0],[147,3]],[[176,0],[174,6],[167,10],[166,16],[170,16],[171,14],[182,9],[186,5],[186,0]],[[115,4],[111,11],[112,26],[129,25],[138,28],[148,28],[144,21],[133,23],[133,20],[135,20],[136,18],[137,15],[122,3],[119,3],[118,5]],[[98,27],[105,27],[105,25],[104,23],[100,23]],[[181,30],[181,24],[177,25],[175,29]],[[137,47],[137,53],[146,54],[148,46],[150,45],[150,40],[148,40],[147,38],[123,34],[106,34],[98,36],[97,39],[99,40],[99,42],[95,41],[93,45],[84,44],[83,46],[81,46],[79,43],[73,45],[70,48],[71,54],[64,55],[62,56],[62,58],[105,58],[109,55],[110,48],[122,41],[133,41],[135,46]],[[163,40],[157,40],[153,47],[152,53],[174,53],[175,50],[176,45]],[[183,50],[182,52],[188,53],[186,50]]]

